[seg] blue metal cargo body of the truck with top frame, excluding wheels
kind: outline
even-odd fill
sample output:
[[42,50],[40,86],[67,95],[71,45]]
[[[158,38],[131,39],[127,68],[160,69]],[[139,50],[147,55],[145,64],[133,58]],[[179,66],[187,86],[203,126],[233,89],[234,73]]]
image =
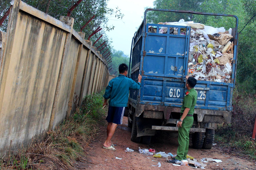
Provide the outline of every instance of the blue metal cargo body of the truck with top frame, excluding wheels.
[[[177,12],[176,10],[166,11]],[[190,27],[147,24],[146,12],[145,19],[135,35],[132,47],[131,78],[136,81],[138,75],[141,74],[142,88],[140,90],[130,90],[129,101],[135,105],[181,107],[182,99],[187,91],[184,77],[188,72]],[[234,15],[189,13],[236,18],[236,28],[233,29],[232,33],[234,37],[234,58],[231,83],[197,81],[195,87],[198,93],[196,109],[231,111],[237,62],[238,19]],[[156,33],[148,32],[150,26],[156,28]],[[159,33],[159,29],[162,27],[168,28],[167,34]],[[170,34],[169,28],[174,27],[178,28],[177,35]],[[186,34],[181,34],[181,30],[186,30]]]

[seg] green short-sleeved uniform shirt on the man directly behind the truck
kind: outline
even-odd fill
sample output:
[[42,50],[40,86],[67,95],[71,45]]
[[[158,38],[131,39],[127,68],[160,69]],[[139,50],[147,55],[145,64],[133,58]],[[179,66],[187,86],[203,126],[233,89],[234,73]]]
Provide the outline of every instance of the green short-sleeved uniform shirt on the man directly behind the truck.
[[188,114],[194,113],[194,108],[196,105],[197,93],[196,90],[190,89],[186,92],[185,97],[183,98],[182,106],[181,106],[181,113],[184,112],[185,108],[189,108]]

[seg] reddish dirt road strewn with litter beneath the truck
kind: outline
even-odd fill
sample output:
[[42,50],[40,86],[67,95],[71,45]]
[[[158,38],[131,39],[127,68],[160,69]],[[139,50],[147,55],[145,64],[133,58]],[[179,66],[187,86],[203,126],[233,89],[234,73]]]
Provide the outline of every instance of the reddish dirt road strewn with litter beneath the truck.
[[[167,163],[166,158],[155,158],[152,156],[142,155],[138,152],[138,148],[153,148],[156,152],[163,151],[166,153],[176,154],[178,142],[177,137],[171,137],[169,133],[157,134],[150,145],[135,143],[130,140],[131,129],[127,126],[127,117],[123,118],[123,125],[119,125],[112,138],[112,142],[116,144],[116,151],[106,150],[102,148],[102,144],[106,138],[106,125],[101,128],[97,139],[93,141],[87,148],[86,160],[88,162],[80,162],[77,169],[88,170],[191,170],[191,167],[176,167],[172,163]],[[134,149],[134,152],[125,152],[126,148]],[[208,162],[205,169],[210,170],[256,170],[256,164],[250,160],[244,160],[220,151],[218,146],[210,150],[189,148],[188,154],[200,160],[203,157],[220,159],[222,162]],[[116,159],[122,158],[122,160]],[[154,161],[152,161],[154,160]],[[161,167],[153,167],[158,162]],[[200,169],[200,168],[198,168]]]

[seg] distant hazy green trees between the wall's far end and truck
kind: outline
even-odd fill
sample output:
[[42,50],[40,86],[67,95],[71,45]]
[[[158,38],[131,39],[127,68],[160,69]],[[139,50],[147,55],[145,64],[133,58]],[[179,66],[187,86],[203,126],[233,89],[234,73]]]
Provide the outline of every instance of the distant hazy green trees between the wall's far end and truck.
[[119,75],[119,70],[118,70],[119,65],[124,63],[129,66],[129,61],[130,61],[130,58],[127,55],[125,55],[123,53],[123,51],[120,51],[120,50],[117,51],[117,50],[113,49],[112,62],[110,63],[110,66],[112,66],[113,69],[109,74],[110,75],[115,74],[115,76],[118,76]]

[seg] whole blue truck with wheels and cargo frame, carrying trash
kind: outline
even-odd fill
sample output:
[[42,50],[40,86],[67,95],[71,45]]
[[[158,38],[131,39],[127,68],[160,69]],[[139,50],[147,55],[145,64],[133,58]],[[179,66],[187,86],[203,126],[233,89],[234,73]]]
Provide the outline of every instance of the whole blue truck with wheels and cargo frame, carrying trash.
[[[167,34],[160,34],[162,24],[146,22],[148,11],[177,12],[200,15],[235,17],[232,29],[233,64],[230,82],[198,80],[195,86],[198,97],[194,112],[194,123],[190,130],[194,148],[210,149],[213,145],[217,124],[231,123],[232,94],[235,85],[238,18],[235,15],[200,13],[191,11],[147,9],[144,20],[133,37],[129,74],[133,80],[142,75],[141,89],[130,90],[127,107],[128,126],[132,128],[131,140],[149,143],[156,131],[177,132],[176,122],[180,119],[183,97],[186,93],[186,75],[190,45],[189,26],[164,25]],[[150,32],[148,28],[156,28]],[[169,28],[177,28],[170,34]],[[185,34],[180,34],[180,30]]]

